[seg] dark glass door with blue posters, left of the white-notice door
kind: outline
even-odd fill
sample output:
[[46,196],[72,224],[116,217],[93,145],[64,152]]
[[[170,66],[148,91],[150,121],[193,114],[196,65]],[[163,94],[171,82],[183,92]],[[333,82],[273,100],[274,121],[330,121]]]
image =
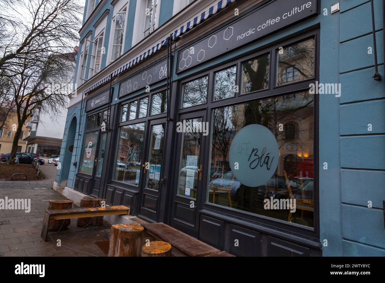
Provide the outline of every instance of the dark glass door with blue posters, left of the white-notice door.
[[150,221],[158,221],[159,194],[163,189],[166,119],[149,122],[146,154],[142,164],[141,204],[139,215]]

